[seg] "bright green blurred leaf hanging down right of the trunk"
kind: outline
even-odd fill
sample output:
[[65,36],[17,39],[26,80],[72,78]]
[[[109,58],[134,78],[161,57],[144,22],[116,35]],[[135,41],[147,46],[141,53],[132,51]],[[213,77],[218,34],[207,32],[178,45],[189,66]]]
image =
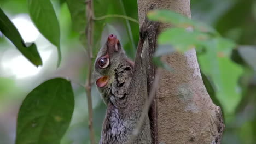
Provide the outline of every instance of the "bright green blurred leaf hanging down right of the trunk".
[[[242,68],[229,59],[232,50],[230,47],[233,45],[226,40],[213,39],[206,45],[206,53],[198,56],[200,68],[212,78],[216,86],[216,96],[223,106],[224,113],[231,114],[241,100],[237,82],[242,74]],[[224,55],[220,50],[225,51]]]

